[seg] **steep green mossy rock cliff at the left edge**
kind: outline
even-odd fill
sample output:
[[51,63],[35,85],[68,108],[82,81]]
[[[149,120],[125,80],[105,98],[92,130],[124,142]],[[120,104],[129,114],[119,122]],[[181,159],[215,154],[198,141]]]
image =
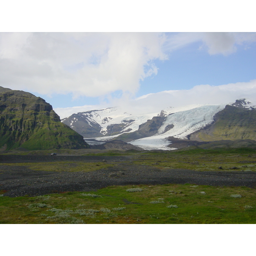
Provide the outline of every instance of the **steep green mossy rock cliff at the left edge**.
[[0,148],[43,150],[89,148],[83,137],[61,123],[52,106],[31,93],[0,87]]

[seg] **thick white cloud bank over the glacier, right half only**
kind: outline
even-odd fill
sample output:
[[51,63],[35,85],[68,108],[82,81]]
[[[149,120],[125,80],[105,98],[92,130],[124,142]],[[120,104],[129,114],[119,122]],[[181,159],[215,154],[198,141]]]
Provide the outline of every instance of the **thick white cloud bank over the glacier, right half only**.
[[148,111],[151,111],[155,108],[161,110],[170,106],[228,104],[241,98],[256,99],[256,79],[250,82],[223,84],[219,86],[202,84],[190,90],[168,90],[151,93],[138,98],[131,105],[145,106]]

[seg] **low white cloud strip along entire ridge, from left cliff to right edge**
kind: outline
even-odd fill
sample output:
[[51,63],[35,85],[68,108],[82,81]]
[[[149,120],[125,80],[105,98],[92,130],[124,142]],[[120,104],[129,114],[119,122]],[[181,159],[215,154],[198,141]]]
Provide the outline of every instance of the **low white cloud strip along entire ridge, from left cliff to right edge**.
[[201,84],[190,90],[168,90],[159,93],[149,93],[135,100],[131,100],[128,97],[126,99],[116,99],[112,102],[113,105],[108,106],[56,108],[55,111],[58,115],[61,115],[61,118],[64,118],[70,116],[72,113],[119,106],[123,112],[139,115],[160,113],[161,110],[168,107],[180,108],[188,105],[194,105],[196,107],[196,105],[229,104],[235,102],[236,99],[243,98],[256,104],[256,79],[250,82],[223,84],[219,86]]

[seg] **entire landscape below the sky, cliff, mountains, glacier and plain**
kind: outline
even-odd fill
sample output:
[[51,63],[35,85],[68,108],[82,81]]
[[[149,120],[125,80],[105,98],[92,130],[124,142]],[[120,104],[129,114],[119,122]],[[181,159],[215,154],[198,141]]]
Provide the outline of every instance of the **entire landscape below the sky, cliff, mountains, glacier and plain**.
[[0,103],[2,224],[256,221],[256,109],[246,99],[62,120],[31,93],[0,87]]

